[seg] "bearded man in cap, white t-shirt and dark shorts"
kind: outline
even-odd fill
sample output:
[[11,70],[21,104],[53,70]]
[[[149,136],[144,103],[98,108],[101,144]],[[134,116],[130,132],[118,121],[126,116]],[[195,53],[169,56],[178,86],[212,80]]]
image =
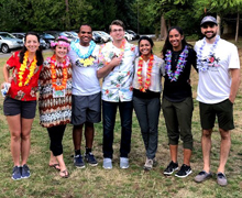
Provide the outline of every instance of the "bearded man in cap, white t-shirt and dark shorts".
[[205,37],[196,43],[195,51],[199,69],[197,100],[202,128],[204,169],[195,177],[195,182],[201,183],[212,176],[211,133],[218,117],[221,144],[217,183],[226,186],[224,166],[231,146],[231,130],[234,129],[233,103],[240,85],[240,59],[237,46],[217,35],[218,23],[213,16],[205,16],[200,26]]

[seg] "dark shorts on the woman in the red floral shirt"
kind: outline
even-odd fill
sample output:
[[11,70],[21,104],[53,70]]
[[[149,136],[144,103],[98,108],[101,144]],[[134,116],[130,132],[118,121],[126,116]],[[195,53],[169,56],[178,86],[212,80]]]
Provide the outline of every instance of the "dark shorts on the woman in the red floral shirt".
[[36,112],[36,100],[22,101],[6,97],[3,101],[4,116],[20,114],[24,119],[33,119]]

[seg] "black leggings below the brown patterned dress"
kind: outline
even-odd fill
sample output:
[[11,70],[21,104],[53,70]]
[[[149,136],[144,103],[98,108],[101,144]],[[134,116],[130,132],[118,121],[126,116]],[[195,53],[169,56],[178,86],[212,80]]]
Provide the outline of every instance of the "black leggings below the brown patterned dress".
[[53,152],[54,156],[58,156],[63,154],[62,141],[65,129],[66,129],[66,124],[47,128],[48,135],[51,139],[50,150]]

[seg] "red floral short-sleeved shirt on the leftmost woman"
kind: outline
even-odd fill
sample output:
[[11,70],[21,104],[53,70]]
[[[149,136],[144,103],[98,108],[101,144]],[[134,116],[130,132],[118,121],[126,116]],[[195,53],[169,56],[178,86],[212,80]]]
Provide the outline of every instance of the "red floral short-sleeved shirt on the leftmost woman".
[[[21,67],[20,63],[20,52],[15,52],[12,54],[12,56],[7,61],[7,68],[8,69],[13,69],[12,72],[12,81],[11,81],[11,87],[9,89],[9,92],[7,96],[16,99],[16,100],[22,100],[22,101],[32,101],[36,100],[36,91],[38,89],[38,76],[42,70],[42,65],[35,67],[34,75],[30,79],[29,85],[19,87],[19,72]],[[33,62],[33,61],[32,61]],[[31,63],[32,63],[31,62]],[[26,64],[26,69],[23,74],[23,82],[28,75],[30,74],[30,66],[31,63],[28,61]]]

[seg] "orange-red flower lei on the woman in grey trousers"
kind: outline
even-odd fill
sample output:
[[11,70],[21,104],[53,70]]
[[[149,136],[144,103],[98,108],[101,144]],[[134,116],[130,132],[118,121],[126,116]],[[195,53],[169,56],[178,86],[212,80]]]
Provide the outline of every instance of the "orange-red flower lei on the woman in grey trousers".
[[146,89],[151,85],[151,72],[152,72],[152,66],[154,62],[154,55],[152,54],[148,59],[146,80],[145,80],[144,86],[143,86],[143,77],[142,77],[143,61],[144,61],[143,56],[140,56],[139,64],[138,64],[138,82],[140,84],[140,91],[146,92]]

